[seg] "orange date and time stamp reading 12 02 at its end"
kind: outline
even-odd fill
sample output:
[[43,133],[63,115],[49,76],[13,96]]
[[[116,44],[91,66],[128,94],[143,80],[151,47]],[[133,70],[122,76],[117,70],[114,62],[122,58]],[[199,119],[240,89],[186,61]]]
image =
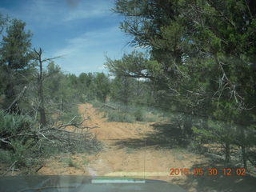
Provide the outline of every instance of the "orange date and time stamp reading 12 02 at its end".
[[226,168],[222,170],[218,170],[217,168],[209,168],[209,169],[188,169],[188,168],[171,168],[170,169],[170,176],[178,176],[178,175],[246,175],[246,169],[231,169]]

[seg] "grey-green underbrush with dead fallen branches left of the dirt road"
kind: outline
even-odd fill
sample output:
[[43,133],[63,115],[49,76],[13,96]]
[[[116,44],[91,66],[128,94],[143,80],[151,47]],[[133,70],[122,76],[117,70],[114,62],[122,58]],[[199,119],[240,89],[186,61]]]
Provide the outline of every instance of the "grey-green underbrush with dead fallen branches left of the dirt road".
[[[70,110],[73,114],[75,111]],[[70,118],[66,119],[70,122]],[[30,116],[6,114],[0,110],[0,163],[22,170],[21,174],[34,174],[42,160],[52,154],[90,154],[102,149],[101,142],[91,134],[76,134],[64,129],[54,124],[42,128]],[[5,170],[1,170],[2,174]]]

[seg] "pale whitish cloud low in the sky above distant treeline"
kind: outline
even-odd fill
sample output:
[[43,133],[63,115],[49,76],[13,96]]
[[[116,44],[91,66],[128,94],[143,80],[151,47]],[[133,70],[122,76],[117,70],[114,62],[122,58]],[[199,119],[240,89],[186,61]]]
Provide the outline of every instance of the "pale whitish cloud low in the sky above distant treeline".
[[124,48],[126,39],[118,26],[87,32],[77,38],[66,40],[66,46],[55,51],[54,56],[64,55],[58,64],[74,74],[106,71],[103,67],[106,56],[120,58],[130,47]]

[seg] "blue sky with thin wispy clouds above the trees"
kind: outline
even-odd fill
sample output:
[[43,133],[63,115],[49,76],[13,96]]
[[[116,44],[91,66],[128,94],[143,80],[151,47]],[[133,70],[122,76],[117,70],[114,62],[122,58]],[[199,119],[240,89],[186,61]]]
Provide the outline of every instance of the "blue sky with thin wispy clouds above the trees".
[[26,22],[34,47],[42,47],[46,57],[62,55],[55,62],[77,75],[106,72],[106,55],[121,58],[132,50],[113,6],[114,0],[0,0],[2,14]]

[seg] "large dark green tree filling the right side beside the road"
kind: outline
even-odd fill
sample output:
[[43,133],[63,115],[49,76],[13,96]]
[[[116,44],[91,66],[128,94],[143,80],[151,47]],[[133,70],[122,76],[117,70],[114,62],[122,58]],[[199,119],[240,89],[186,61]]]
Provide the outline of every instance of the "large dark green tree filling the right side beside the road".
[[[190,134],[194,114],[224,120],[224,130],[217,123],[207,131],[220,135],[215,140],[225,144],[229,163],[230,145],[244,151],[246,135],[253,133],[256,3],[118,0],[115,5],[114,11],[125,17],[121,29],[134,37],[131,43],[148,47],[151,60],[157,61],[159,73],[151,74],[159,103],[188,114],[184,126]],[[133,72],[132,66],[121,66],[126,74]],[[226,130],[234,132],[234,123],[244,126],[230,136]]]

